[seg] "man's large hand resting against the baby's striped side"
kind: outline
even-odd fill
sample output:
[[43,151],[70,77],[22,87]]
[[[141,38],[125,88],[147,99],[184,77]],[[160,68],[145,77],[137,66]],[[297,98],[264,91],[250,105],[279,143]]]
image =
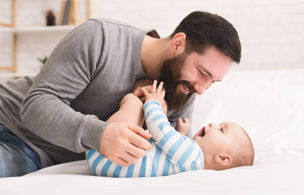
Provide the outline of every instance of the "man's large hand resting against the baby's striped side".
[[151,137],[151,134],[137,125],[112,123],[103,131],[99,153],[113,163],[127,167],[151,149],[151,144],[146,140]]

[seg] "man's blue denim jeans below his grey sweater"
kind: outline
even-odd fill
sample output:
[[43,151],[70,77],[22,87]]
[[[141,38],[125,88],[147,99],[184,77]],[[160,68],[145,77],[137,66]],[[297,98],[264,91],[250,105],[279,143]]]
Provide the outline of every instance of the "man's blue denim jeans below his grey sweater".
[[22,176],[39,169],[39,155],[0,124],[0,178]]

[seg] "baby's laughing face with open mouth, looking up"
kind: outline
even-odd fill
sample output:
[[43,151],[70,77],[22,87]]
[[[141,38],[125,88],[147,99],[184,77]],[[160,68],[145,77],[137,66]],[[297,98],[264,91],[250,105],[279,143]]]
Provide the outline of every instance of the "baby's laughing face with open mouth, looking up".
[[203,127],[192,138],[199,144],[204,155],[218,155],[238,148],[238,141],[245,140],[241,127],[235,123],[225,122],[220,125],[210,123]]

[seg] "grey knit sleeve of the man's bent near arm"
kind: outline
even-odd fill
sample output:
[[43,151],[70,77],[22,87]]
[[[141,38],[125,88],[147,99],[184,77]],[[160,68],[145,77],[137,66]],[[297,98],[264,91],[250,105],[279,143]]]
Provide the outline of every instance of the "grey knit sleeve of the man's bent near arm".
[[79,25],[60,41],[22,102],[20,117],[29,130],[75,152],[98,151],[109,123],[76,112],[70,104],[101,68],[102,49],[102,24],[94,20]]

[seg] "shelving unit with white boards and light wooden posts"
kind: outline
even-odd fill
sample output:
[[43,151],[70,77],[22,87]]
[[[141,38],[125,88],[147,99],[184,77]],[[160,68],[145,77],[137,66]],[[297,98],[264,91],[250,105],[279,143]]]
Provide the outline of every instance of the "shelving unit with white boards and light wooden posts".
[[[91,2],[87,0],[87,18],[91,17]],[[15,0],[11,0],[11,23],[1,23],[0,32],[12,33],[12,66],[0,66],[1,77],[21,77],[25,75],[33,75],[33,73],[19,73],[17,71],[17,37],[24,33],[37,33],[37,32],[69,32],[76,27],[75,25],[57,25],[57,26],[15,26]],[[84,20],[76,19],[77,22],[83,22]],[[2,71],[4,70],[4,71]]]

